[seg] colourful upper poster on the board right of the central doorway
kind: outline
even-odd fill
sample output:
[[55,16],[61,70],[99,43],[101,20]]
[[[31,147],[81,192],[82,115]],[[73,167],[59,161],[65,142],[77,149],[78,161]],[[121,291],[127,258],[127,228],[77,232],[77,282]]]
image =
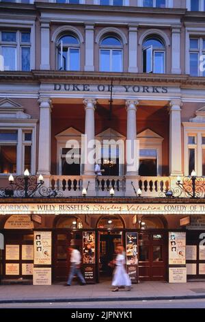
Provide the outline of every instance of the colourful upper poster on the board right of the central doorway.
[[126,264],[138,264],[137,232],[126,232]]

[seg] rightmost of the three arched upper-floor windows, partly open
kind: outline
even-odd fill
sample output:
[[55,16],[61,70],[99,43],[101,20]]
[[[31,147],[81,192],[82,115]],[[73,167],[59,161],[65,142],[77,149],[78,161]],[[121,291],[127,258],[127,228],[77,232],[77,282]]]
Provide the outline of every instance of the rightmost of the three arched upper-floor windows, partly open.
[[165,73],[165,45],[158,36],[143,41],[143,73]]

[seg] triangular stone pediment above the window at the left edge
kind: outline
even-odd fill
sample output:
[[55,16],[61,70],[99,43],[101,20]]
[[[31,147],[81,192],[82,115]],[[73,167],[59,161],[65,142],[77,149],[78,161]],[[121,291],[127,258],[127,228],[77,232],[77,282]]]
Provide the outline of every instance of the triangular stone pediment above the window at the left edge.
[[23,112],[23,107],[12,99],[1,99],[0,119],[31,119],[31,115]]

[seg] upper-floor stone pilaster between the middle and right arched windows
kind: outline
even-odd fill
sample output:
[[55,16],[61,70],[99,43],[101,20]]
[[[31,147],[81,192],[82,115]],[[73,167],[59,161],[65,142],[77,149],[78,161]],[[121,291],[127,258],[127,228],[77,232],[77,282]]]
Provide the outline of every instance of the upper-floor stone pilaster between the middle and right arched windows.
[[137,73],[137,27],[129,27],[129,73]]

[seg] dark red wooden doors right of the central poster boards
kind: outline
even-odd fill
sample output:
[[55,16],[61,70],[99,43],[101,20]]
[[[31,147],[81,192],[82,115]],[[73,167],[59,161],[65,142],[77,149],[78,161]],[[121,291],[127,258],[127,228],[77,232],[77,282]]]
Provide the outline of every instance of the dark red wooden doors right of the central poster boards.
[[139,280],[166,280],[166,250],[165,232],[139,233]]

